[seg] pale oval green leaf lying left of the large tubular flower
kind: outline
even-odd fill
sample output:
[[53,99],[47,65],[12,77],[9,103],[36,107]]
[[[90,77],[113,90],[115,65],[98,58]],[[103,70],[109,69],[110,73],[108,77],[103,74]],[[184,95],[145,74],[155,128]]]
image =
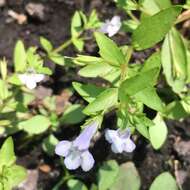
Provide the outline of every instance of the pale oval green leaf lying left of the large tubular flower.
[[30,135],[37,135],[45,132],[51,125],[50,120],[42,115],[36,115],[27,121],[19,123],[19,128],[23,129]]

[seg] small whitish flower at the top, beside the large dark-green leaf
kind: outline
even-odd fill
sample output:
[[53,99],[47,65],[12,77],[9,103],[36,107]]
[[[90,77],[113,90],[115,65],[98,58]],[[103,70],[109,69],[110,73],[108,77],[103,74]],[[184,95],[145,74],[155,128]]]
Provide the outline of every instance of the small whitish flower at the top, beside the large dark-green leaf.
[[114,16],[111,20],[106,20],[100,28],[100,32],[108,34],[109,37],[114,36],[121,28],[121,18]]

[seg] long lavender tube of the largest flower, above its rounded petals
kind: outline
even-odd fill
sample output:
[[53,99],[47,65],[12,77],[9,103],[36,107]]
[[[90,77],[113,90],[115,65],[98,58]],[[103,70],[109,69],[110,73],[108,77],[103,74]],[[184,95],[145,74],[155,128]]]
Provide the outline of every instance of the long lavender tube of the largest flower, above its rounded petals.
[[88,125],[81,134],[73,141],[73,145],[79,150],[86,150],[90,146],[90,141],[98,128],[98,122],[95,121]]

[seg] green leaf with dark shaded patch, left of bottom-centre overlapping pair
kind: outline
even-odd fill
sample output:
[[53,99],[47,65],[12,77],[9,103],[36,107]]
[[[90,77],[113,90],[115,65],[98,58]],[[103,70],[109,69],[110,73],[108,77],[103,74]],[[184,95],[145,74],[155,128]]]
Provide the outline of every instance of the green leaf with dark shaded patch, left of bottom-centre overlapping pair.
[[115,183],[119,174],[119,166],[116,161],[107,161],[98,171],[98,189],[107,190]]

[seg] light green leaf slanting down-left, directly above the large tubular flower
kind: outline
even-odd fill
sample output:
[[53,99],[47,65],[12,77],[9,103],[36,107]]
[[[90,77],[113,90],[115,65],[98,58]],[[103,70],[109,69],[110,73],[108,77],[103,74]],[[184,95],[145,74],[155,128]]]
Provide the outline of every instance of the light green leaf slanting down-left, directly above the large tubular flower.
[[107,111],[117,104],[117,99],[118,90],[116,88],[108,88],[99,94],[93,102],[88,104],[83,112],[87,115],[94,115],[100,111]]

